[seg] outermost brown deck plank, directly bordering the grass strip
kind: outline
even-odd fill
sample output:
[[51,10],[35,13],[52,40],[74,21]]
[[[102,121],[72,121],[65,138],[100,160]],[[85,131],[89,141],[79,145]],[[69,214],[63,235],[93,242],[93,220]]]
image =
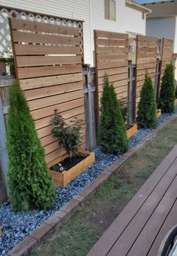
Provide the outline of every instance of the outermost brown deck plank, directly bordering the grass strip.
[[176,151],[177,146],[175,146],[172,151],[169,152],[166,158],[163,159],[162,163],[157,167],[156,170],[154,170],[154,173],[151,174],[151,176],[148,178],[142,188],[139,189],[133,199],[127,204],[121,214],[114,220],[111,226],[109,226],[87,256],[105,256],[108,254],[108,251],[110,251],[111,247],[121,236],[121,234],[124,233],[124,230],[142,207],[142,204],[145,203],[148,196],[151,194],[151,191],[163,178],[169,168],[169,163],[175,161]]

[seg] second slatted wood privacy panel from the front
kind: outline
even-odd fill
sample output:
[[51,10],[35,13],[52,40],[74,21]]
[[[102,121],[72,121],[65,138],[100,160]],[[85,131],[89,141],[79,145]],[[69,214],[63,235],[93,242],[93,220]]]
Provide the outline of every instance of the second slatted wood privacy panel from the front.
[[128,96],[128,35],[94,30],[98,98],[102,95],[103,76],[108,74],[117,98]]

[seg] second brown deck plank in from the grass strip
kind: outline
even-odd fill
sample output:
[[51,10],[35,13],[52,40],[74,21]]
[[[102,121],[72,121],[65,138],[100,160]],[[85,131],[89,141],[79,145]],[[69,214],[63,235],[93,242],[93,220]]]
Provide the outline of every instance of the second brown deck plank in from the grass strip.
[[[131,220],[127,228],[124,230],[124,233],[121,235],[121,237],[117,239],[117,242],[114,244],[113,248],[111,248],[111,251],[108,253],[108,256],[114,256],[116,251],[119,251],[120,256],[128,254],[129,249],[136,242],[136,239],[139,236],[139,233],[142,232],[142,229],[144,228],[145,223],[148,222],[149,218],[155,211],[157,204],[159,204],[160,200],[163,198],[163,195],[169,189],[169,186],[174,180],[174,177],[176,177],[176,174],[177,174],[176,166],[177,166],[177,159],[175,159],[175,162],[172,164],[172,166],[169,167],[169,169],[167,169],[168,171],[165,173],[162,180],[160,180],[160,182],[157,183],[157,186],[154,187],[154,190],[148,196],[145,203],[142,204],[142,207],[139,209],[139,212],[136,214],[135,217],[133,217],[133,220]],[[175,182],[176,181],[177,179],[175,179]],[[174,201],[172,201],[172,203],[173,202]],[[148,241],[146,242],[146,246],[147,245],[148,245]],[[130,255],[136,255],[136,256],[145,255],[145,254],[137,254],[137,253],[138,252],[136,250],[136,254],[130,254]]]

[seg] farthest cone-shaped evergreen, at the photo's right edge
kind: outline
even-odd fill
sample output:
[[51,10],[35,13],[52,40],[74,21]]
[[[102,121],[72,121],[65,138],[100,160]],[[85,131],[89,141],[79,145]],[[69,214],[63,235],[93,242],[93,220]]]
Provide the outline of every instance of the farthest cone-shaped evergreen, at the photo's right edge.
[[163,112],[172,113],[175,110],[174,101],[175,86],[173,65],[167,64],[162,77],[158,108],[161,108]]

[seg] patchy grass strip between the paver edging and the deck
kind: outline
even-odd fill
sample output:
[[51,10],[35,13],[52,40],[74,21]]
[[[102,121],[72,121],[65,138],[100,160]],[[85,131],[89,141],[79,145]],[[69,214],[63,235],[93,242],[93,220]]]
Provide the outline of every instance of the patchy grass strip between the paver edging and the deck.
[[134,154],[121,170],[96,189],[68,223],[56,229],[50,239],[29,255],[85,256],[176,144],[177,120]]

